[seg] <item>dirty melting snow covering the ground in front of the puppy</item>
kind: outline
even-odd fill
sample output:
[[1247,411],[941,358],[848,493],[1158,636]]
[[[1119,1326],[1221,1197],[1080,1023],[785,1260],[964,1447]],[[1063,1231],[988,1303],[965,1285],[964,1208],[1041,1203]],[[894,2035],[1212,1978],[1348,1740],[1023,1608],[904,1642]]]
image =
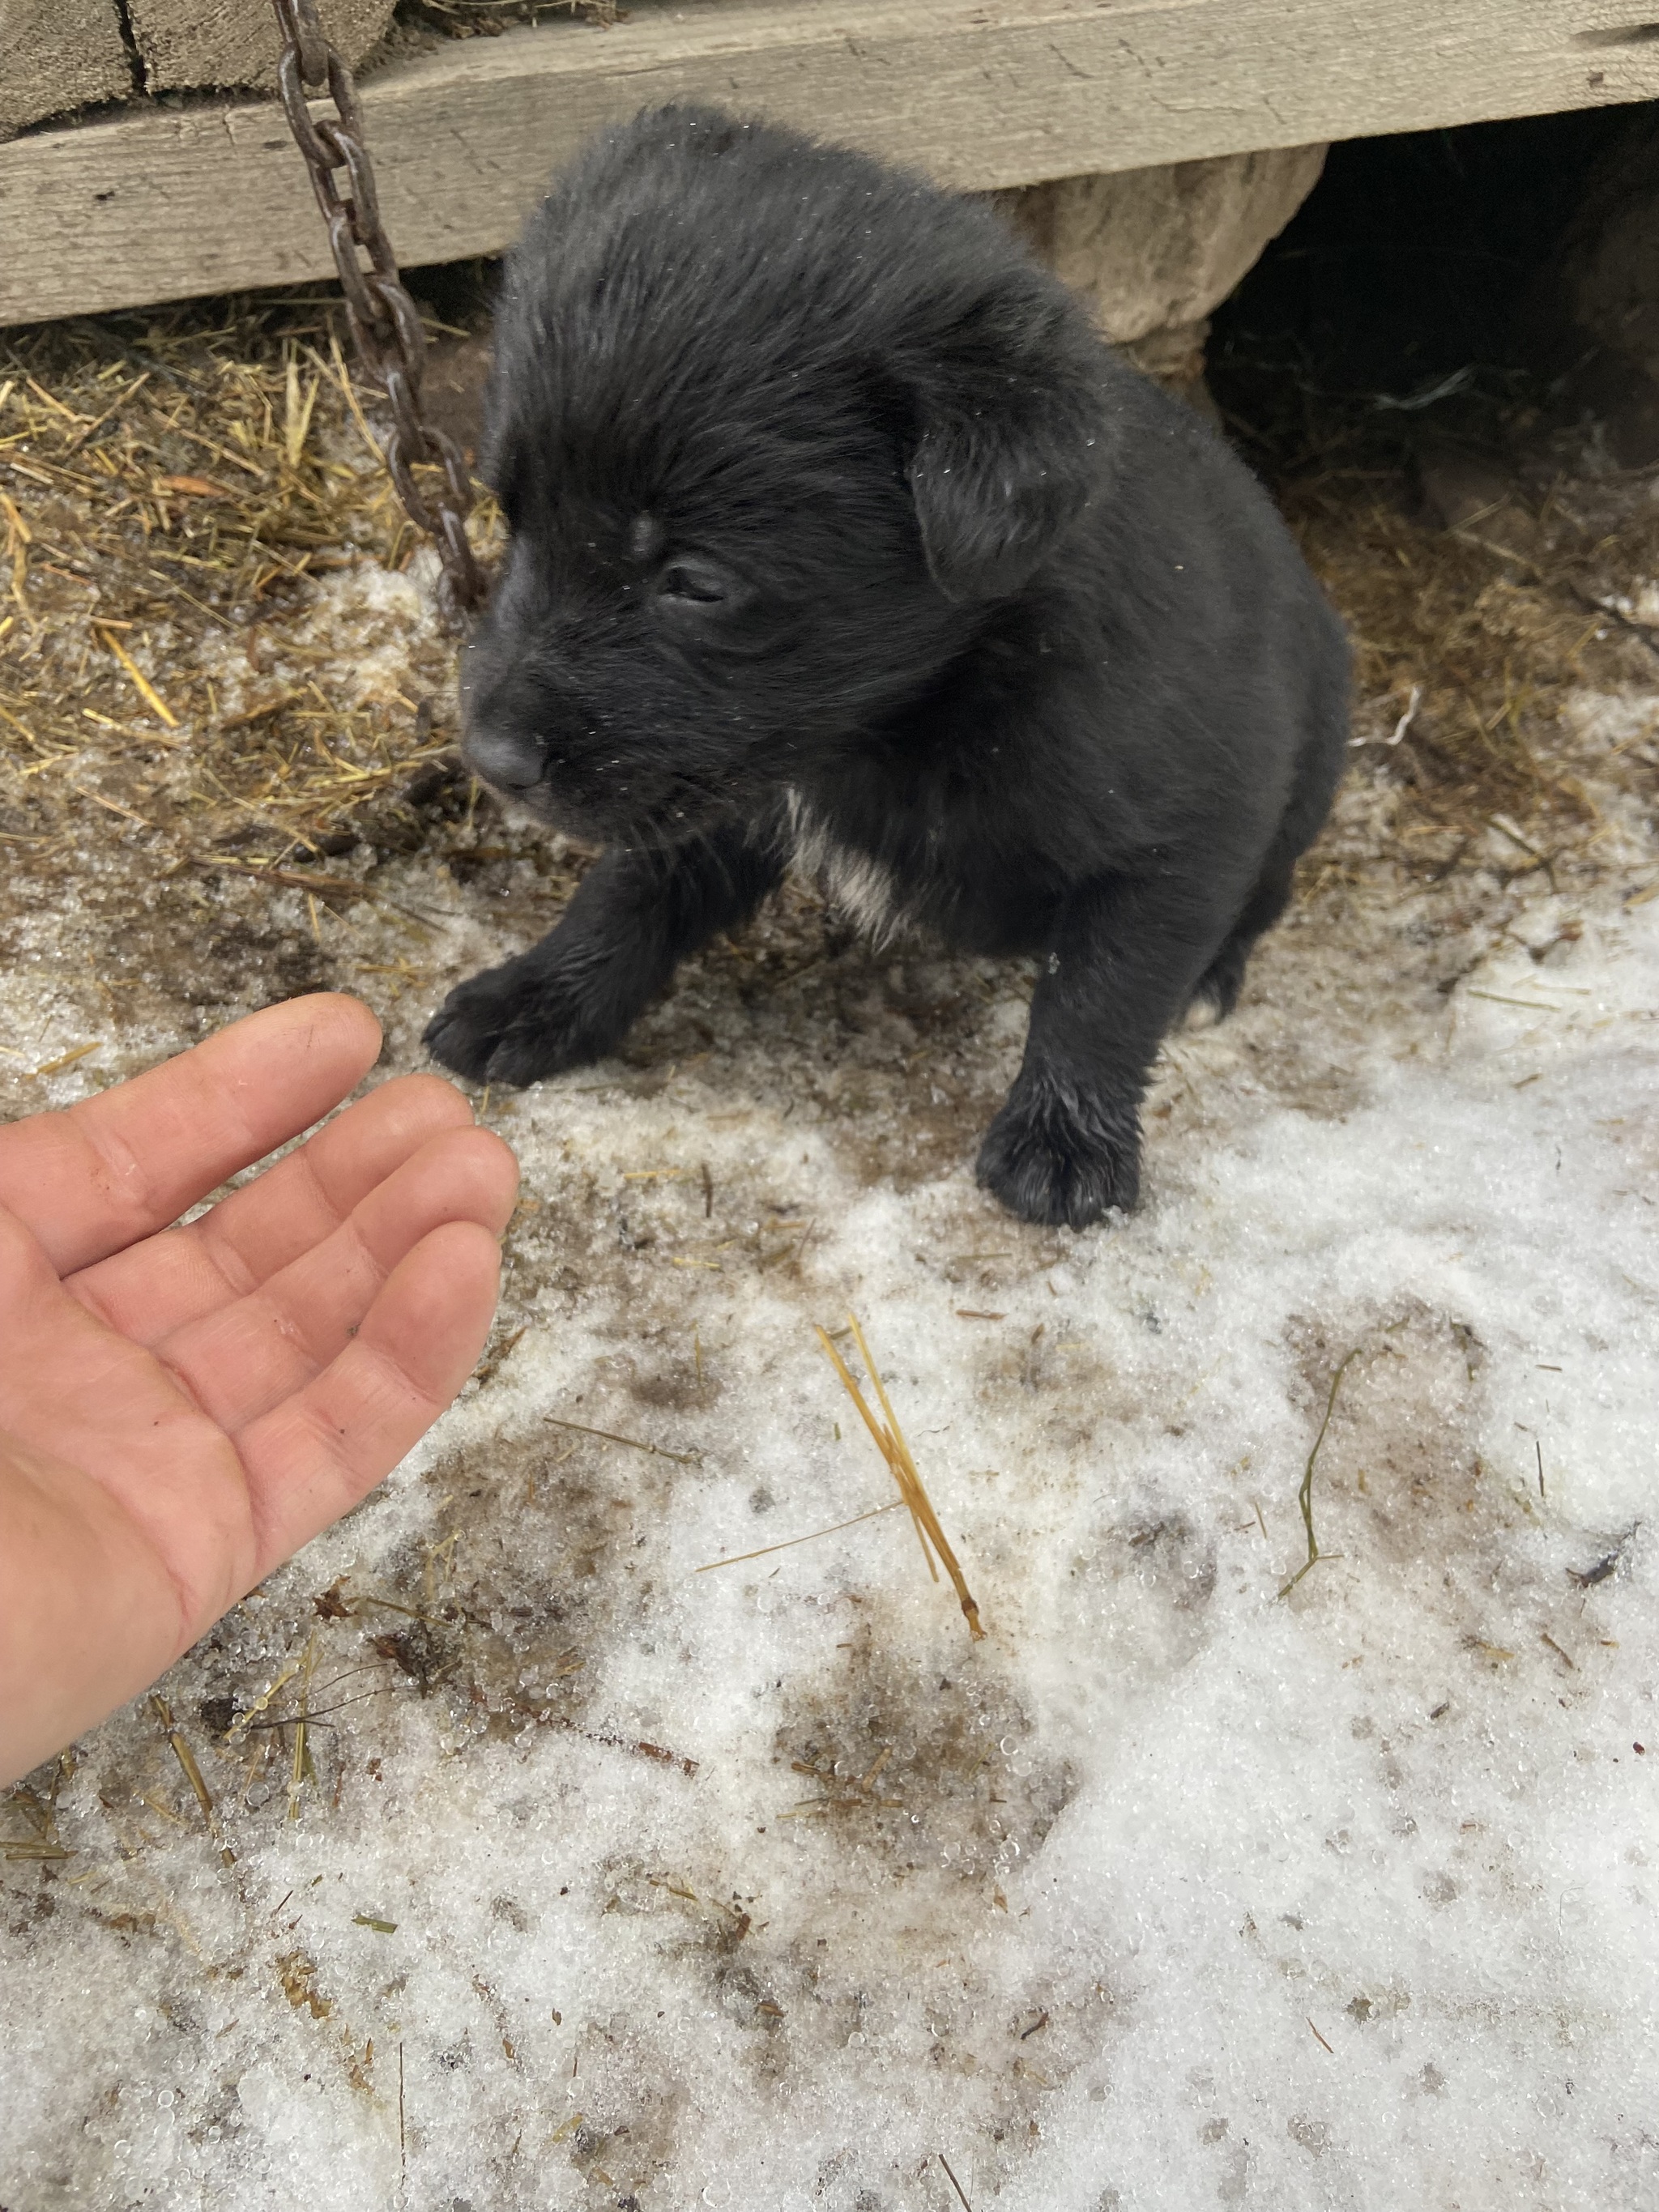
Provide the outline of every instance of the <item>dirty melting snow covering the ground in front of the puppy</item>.
[[[1316,889],[1086,1234],[971,1181],[1022,975],[810,902],[487,1099],[495,1365],[164,1683],[215,1832],[146,1705],[7,1807],[0,2203],[1659,2205],[1659,900],[1504,849]],[[513,927],[376,880],[409,1066]],[[982,1644],[814,1535],[847,1310]]]

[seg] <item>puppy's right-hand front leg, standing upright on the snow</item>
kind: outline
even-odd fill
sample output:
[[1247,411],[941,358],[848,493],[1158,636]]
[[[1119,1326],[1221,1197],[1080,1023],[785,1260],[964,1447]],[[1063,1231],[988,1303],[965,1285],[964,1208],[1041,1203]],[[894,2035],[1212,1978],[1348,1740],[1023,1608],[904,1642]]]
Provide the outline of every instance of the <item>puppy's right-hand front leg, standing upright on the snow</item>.
[[1110,876],[1068,900],[980,1146],[980,1181],[1011,1212],[1084,1228],[1135,1206],[1148,1071],[1223,929],[1190,876]]

